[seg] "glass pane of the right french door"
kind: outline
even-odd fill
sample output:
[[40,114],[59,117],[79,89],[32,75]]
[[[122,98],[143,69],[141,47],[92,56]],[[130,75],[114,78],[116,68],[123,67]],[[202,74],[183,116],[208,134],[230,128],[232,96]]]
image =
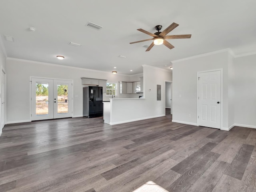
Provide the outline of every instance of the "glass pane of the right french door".
[[58,114],[68,113],[68,84],[58,84]]

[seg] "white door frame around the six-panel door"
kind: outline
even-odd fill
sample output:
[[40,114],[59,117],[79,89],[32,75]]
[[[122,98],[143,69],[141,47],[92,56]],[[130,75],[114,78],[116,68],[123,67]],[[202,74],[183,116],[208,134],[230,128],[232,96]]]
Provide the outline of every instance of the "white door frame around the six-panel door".
[[[199,104],[198,104],[198,97],[199,97],[199,81],[198,77],[200,73],[205,72],[214,72],[214,71],[220,71],[220,130],[222,130],[223,126],[223,68],[220,69],[212,69],[212,70],[206,70],[206,71],[198,71],[196,76],[196,116],[199,114]],[[196,125],[199,126],[199,120],[196,118]]]

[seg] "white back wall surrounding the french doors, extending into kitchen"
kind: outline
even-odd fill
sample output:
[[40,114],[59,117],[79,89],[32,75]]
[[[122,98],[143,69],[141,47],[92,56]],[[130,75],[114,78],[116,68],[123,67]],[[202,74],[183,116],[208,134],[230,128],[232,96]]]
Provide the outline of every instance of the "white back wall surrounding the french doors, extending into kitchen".
[[[81,68],[65,67],[54,64],[44,64],[27,60],[8,58],[7,71],[7,123],[26,122],[30,120],[30,76],[59,78],[73,80],[74,116],[82,116],[82,81],[81,77],[106,79],[107,82],[139,80],[137,76],[112,74]],[[142,74],[138,74],[142,76]],[[119,90],[118,90],[119,92]],[[119,94],[116,98],[137,97],[139,94]],[[111,96],[104,94],[103,99],[109,100]]]

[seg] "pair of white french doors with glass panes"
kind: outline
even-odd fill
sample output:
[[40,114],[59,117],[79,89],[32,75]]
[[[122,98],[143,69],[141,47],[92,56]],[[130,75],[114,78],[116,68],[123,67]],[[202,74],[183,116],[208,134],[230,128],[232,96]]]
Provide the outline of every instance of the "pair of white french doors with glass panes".
[[31,120],[72,117],[72,81],[31,78]]

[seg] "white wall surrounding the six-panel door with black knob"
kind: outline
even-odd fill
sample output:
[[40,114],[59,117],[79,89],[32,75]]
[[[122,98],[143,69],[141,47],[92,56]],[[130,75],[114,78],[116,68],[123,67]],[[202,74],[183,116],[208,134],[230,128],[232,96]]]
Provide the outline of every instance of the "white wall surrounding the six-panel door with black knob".
[[[223,120],[228,128],[228,52],[206,54],[202,57],[173,63],[172,120],[196,125],[197,121],[197,72],[223,69]],[[189,115],[191,117],[189,117]]]

